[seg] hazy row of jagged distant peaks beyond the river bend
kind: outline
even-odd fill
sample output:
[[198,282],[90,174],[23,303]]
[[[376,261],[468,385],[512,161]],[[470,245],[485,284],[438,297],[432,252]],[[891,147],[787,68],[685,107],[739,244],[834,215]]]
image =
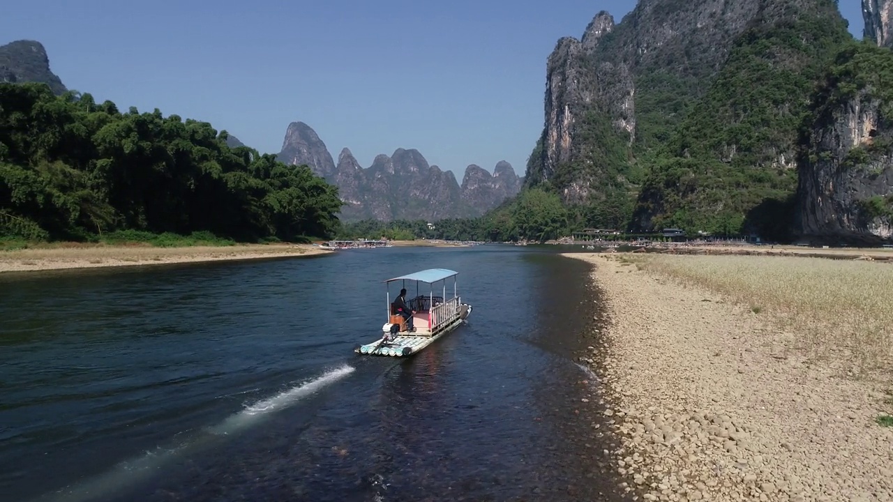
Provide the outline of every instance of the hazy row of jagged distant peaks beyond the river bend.
[[347,222],[480,216],[517,194],[523,184],[512,165],[502,161],[493,174],[469,165],[460,185],[453,172],[430,165],[415,149],[397,148],[390,156],[378,155],[363,169],[344,148],[336,164],[316,131],[300,121],[288,125],[277,159],[306,164],[336,185],[346,203],[340,217]]

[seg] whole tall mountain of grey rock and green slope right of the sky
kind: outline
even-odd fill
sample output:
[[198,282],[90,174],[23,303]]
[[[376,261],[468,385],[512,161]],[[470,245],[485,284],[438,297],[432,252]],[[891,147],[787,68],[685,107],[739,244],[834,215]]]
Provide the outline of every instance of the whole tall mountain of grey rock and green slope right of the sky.
[[797,138],[852,41],[834,0],[651,0],[598,13],[547,64],[528,188],[572,226],[789,234]]

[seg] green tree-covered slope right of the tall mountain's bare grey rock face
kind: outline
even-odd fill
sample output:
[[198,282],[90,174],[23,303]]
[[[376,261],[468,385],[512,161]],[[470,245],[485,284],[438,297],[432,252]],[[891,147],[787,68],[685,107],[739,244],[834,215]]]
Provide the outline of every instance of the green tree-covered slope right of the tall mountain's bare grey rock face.
[[648,159],[634,227],[785,237],[799,129],[823,71],[852,39],[836,7],[820,4],[758,19],[736,39],[705,96]]

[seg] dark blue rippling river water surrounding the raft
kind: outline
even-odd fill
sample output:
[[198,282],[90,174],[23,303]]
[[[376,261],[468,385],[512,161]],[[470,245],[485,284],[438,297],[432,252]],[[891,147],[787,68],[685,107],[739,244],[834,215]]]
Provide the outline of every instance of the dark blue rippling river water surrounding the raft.
[[[424,268],[468,323],[356,356]],[[489,245],[0,276],[0,500],[617,499],[587,276]]]

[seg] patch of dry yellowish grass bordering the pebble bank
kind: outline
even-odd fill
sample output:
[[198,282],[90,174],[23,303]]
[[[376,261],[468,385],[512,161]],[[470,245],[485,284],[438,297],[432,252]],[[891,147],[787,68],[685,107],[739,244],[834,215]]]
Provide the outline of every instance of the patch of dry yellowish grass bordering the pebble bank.
[[719,291],[755,315],[772,315],[815,360],[860,377],[889,374],[889,264],[734,255],[635,255],[625,261]]

